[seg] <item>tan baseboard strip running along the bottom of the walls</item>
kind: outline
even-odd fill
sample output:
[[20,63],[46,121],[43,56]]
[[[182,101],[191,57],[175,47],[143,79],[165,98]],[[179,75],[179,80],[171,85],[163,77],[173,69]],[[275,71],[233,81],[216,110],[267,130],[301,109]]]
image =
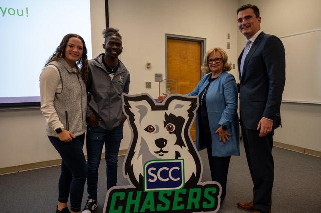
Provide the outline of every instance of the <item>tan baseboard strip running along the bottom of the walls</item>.
[[[284,148],[287,150],[291,150],[291,151],[296,151],[296,152],[303,153],[303,154],[321,157],[320,151],[314,151],[314,150],[301,148],[301,147],[297,147],[294,145],[288,145],[288,144],[284,144],[284,143],[280,143],[280,142],[274,142],[274,146],[279,147],[279,148]],[[118,155],[122,156],[122,155],[125,155],[126,153],[127,153],[127,149],[120,150]],[[87,159],[87,155],[85,157]],[[105,158],[105,153],[102,153],[101,158]],[[50,161],[45,161],[45,162],[36,162],[36,163],[30,163],[30,164],[25,164],[25,165],[0,168],[0,175],[22,172],[22,171],[29,171],[29,170],[39,169],[39,168],[47,168],[47,167],[52,167],[52,166],[59,166],[60,164],[61,164],[61,159],[57,159],[57,160],[50,160]]]

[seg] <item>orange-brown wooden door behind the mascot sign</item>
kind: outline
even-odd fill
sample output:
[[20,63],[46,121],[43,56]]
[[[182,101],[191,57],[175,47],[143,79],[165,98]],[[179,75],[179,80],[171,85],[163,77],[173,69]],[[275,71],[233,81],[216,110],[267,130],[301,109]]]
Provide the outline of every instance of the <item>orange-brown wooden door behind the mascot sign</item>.
[[[167,38],[167,79],[176,81],[178,94],[190,93],[201,78],[201,42]],[[190,131],[195,141],[195,121]]]

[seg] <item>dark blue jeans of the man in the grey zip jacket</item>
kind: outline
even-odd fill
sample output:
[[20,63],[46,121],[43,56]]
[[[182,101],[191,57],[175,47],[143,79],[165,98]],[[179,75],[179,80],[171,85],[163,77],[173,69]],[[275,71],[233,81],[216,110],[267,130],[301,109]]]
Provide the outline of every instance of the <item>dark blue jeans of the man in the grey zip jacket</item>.
[[86,138],[88,157],[88,199],[97,200],[98,168],[104,144],[106,159],[107,190],[112,186],[117,185],[118,152],[120,142],[123,138],[123,125],[118,126],[111,131],[105,130],[100,126],[88,127]]

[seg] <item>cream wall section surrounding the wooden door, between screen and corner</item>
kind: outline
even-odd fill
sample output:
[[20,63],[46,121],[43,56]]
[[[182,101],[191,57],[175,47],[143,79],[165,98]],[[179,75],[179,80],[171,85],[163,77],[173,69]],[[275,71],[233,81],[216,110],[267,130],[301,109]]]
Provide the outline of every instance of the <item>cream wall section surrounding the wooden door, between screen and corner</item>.
[[[206,49],[221,46],[232,63],[237,62],[237,27],[233,14],[237,0],[108,0],[109,26],[119,29],[123,53],[120,60],[130,72],[130,94],[159,94],[155,73],[165,79],[165,34],[206,38]],[[230,39],[227,39],[230,33]],[[103,42],[103,39],[101,40]],[[147,69],[147,58],[151,68]],[[189,71],[186,70],[188,74]],[[194,70],[193,70],[194,71]],[[236,74],[237,69],[231,70]],[[145,82],[152,82],[146,89]],[[121,149],[131,139],[125,126]]]

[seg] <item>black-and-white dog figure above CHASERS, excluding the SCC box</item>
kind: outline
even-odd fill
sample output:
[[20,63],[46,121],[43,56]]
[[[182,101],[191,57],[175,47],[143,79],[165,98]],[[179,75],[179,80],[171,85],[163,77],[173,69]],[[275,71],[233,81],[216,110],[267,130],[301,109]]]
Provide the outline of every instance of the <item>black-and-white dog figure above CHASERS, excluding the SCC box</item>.
[[123,94],[123,111],[132,130],[124,174],[136,188],[143,187],[144,165],[150,160],[184,158],[185,187],[197,185],[202,173],[200,156],[189,130],[198,97],[170,95],[156,103],[148,94]]

